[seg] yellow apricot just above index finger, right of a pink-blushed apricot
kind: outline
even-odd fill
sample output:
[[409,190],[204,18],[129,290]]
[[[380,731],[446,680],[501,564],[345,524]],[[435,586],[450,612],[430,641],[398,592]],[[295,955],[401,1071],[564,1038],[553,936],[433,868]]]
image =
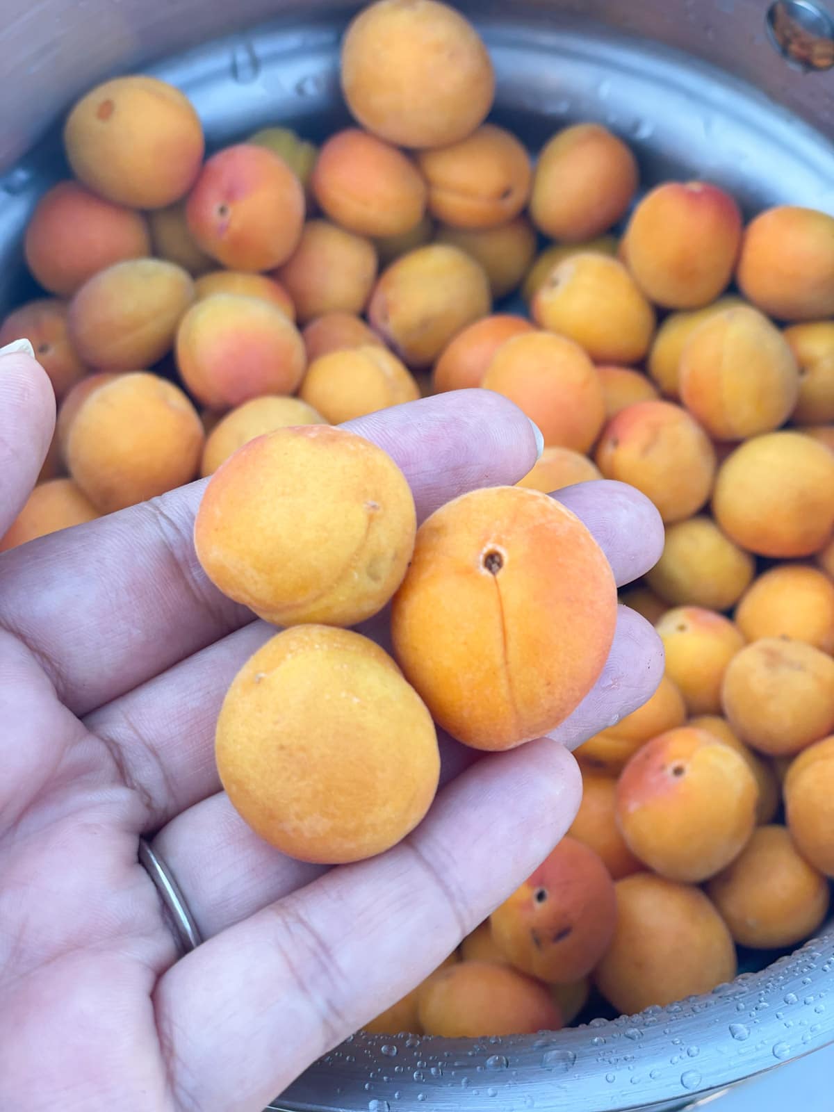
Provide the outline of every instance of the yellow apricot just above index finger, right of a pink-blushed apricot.
[[407,368],[378,345],[319,356],[307,368],[299,394],[331,425],[420,396]]

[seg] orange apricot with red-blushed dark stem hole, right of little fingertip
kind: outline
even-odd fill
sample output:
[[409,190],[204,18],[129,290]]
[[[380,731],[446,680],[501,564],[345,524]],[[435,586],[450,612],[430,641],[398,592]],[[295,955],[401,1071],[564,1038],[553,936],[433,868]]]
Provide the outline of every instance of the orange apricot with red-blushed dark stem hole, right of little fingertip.
[[643,745],[617,781],[617,824],[641,861],[671,881],[714,876],[746,845],[758,785],[744,757],[678,726]]

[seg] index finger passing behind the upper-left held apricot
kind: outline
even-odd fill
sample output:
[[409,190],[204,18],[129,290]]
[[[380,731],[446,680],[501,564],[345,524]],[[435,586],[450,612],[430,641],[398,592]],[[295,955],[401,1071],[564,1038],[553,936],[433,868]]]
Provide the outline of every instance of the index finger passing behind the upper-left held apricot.
[[[401,465],[421,515],[466,489],[515,483],[536,459],[529,420],[488,390],[397,406],[350,428]],[[203,488],[192,483],[3,557],[0,623],[33,646],[77,714],[251,620],[197,560]]]

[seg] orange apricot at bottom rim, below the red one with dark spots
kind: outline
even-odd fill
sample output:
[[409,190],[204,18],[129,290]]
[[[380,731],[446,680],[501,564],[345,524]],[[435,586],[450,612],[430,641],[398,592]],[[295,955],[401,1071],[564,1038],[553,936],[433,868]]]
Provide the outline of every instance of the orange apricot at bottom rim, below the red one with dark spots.
[[420,1026],[445,1039],[558,1031],[562,1013],[547,989],[508,965],[459,962],[418,996]]

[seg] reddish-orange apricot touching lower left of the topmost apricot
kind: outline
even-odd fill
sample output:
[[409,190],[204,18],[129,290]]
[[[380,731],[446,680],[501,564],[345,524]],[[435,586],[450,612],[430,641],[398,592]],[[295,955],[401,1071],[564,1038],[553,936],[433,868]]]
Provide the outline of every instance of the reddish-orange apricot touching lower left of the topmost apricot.
[[426,182],[411,159],[359,128],[330,136],[311,186],[325,215],[359,236],[401,236],[426,210]]

